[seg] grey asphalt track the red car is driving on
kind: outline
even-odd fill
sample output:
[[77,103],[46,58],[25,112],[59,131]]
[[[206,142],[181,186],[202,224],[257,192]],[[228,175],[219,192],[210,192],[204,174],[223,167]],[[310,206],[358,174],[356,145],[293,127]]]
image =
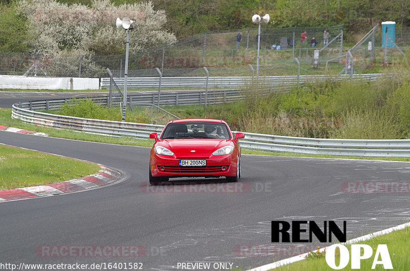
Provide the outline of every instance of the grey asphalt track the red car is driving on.
[[[229,262],[245,269],[326,245],[272,244],[271,220],[347,220],[347,239],[410,220],[409,193],[342,190],[345,182],[406,181],[409,163],[242,155],[237,184],[157,190],[147,186],[149,148],[6,131],[0,143],[100,163],[126,176],[90,191],[0,203],[2,263],[141,262],[146,270],[172,270],[178,262]],[[260,245],[262,251],[251,250]],[[61,246],[138,246],[144,253],[42,255],[45,247]]]

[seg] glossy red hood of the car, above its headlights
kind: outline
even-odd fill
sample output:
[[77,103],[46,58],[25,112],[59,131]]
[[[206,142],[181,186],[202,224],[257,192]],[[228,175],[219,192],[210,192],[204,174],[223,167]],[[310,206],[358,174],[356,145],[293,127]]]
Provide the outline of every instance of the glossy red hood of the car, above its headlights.
[[174,153],[211,153],[231,145],[231,141],[227,139],[166,139],[158,143]]

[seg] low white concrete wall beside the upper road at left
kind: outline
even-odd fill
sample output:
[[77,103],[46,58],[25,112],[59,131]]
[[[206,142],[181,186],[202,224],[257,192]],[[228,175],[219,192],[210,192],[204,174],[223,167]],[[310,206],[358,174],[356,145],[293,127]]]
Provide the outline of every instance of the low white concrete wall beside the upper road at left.
[[99,79],[0,75],[0,88],[68,89],[72,91],[85,91],[87,89],[99,89]]

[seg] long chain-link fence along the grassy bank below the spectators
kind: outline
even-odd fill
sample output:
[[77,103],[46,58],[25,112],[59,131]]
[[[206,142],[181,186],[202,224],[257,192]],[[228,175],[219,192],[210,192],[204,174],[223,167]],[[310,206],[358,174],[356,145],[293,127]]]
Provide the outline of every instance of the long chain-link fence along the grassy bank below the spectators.
[[[324,30],[330,33],[327,47],[323,47]],[[162,44],[142,50],[129,56],[128,76],[155,77],[158,75],[155,68],[160,69],[164,77],[197,76],[197,73],[203,75],[203,66],[208,67],[210,76],[249,76],[252,74],[250,64],[257,69],[257,31],[257,28],[249,28],[205,32],[180,39],[175,44]],[[308,38],[301,44],[300,34],[304,31]],[[238,33],[242,33],[242,41],[236,49]],[[309,44],[313,37],[319,42],[316,47]],[[374,38],[373,51],[368,50],[371,38]],[[360,46],[350,50],[351,48],[343,47],[343,26],[283,29],[262,27],[259,75],[296,75],[295,58],[300,61],[300,74],[339,74],[348,64],[349,56],[346,53],[349,50],[353,56],[355,73],[365,72],[375,63],[406,64],[410,28],[396,29],[396,44],[401,51],[396,47],[384,50],[379,28],[374,31],[374,37],[366,37]],[[275,46],[276,49],[280,46],[280,50],[273,50]],[[317,63],[314,63],[315,50],[319,50]],[[101,78],[107,77],[107,67],[113,71],[114,77],[124,77],[125,55],[45,56],[0,53],[0,75]]]

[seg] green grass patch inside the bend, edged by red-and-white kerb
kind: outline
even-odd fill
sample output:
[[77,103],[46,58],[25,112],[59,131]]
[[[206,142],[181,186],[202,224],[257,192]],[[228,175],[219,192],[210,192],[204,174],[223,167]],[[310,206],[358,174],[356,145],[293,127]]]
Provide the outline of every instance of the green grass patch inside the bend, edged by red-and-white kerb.
[[99,170],[97,164],[0,145],[0,190],[64,182]]

